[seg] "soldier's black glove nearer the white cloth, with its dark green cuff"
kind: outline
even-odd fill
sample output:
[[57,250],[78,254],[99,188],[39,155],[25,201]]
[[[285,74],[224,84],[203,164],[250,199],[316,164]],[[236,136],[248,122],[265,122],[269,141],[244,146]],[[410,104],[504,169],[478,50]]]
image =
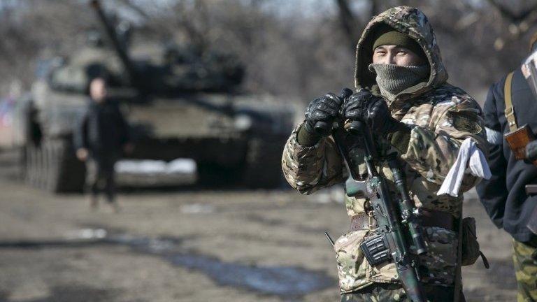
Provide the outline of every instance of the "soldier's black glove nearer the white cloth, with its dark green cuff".
[[406,152],[410,128],[392,117],[382,97],[361,90],[350,96],[343,106],[343,113],[346,119],[365,122],[373,134],[387,138],[400,152]]

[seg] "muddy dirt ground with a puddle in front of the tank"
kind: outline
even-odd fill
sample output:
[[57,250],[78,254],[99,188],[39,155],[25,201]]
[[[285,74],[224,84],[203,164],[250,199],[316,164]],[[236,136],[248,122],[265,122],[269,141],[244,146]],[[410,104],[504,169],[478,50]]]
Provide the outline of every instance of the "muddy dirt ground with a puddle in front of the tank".
[[[324,238],[348,227],[331,194],[212,191],[120,194],[92,212],[0,178],[0,301],[338,301]],[[510,239],[475,199],[489,258],[464,268],[468,301],[515,301]]]

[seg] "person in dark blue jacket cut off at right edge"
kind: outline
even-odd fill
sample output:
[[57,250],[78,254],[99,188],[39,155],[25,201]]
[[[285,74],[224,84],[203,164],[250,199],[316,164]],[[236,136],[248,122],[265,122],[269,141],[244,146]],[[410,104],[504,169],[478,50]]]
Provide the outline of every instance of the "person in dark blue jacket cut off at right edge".
[[[532,52],[537,50],[537,36],[534,37]],[[514,122],[510,107],[514,110]],[[525,190],[526,185],[537,184],[537,166],[515,159],[503,137],[524,124],[537,132],[537,99],[521,68],[490,87],[484,110],[492,178],[482,180],[478,194],[496,227],[513,236],[517,301],[537,301],[537,236],[527,227],[537,196]]]

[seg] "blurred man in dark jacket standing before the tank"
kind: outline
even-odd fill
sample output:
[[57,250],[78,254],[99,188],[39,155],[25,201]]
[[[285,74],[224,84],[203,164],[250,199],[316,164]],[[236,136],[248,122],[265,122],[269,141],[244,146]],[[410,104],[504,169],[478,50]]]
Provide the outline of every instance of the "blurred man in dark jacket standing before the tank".
[[132,149],[127,122],[117,106],[108,99],[106,80],[94,78],[90,82],[90,101],[75,133],[76,156],[86,162],[86,186],[90,192],[90,206],[98,205],[98,194],[104,192],[114,210],[114,164],[122,151]]

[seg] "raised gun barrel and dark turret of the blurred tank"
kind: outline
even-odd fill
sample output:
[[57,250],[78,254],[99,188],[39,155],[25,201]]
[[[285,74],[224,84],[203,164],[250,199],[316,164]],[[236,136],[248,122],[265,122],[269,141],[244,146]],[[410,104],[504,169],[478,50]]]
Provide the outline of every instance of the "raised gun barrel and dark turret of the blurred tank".
[[241,85],[244,69],[236,57],[195,45],[182,48],[166,45],[159,64],[131,59],[126,43],[120,40],[115,24],[107,17],[101,2],[92,0],[91,5],[110,45],[122,62],[129,84],[141,92],[230,92]]

